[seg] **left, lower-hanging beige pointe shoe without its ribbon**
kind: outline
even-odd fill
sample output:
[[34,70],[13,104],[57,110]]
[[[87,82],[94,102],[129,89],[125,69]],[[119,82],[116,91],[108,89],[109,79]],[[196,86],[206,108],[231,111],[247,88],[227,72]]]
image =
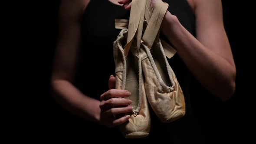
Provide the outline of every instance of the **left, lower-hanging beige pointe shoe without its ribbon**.
[[[125,59],[122,43],[127,36],[127,30],[123,29],[114,43],[114,57],[116,63],[116,89],[125,89],[131,92],[133,112],[127,123],[119,126],[125,138],[140,138],[148,136],[151,127],[148,101],[145,92],[144,79],[141,71],[141,59],[129,52]],[[135,47],[131,47],[136,48]],[[123,115],[122,115],[123,116]],[[121,117],[121,116],[120,116]]]

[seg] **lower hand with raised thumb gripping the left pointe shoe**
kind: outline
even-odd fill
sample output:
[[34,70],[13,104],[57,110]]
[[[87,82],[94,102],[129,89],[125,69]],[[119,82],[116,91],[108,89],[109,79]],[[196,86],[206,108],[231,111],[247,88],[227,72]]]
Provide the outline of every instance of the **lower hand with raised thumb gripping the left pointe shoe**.
[[100,96],[100,123],[108,127],[113,127],[125,123],[130,118],[130,115],[115,118],[115,115],[132,111],[132,107],[129,106],[131,105],[131,100],[125,98],[130,96],[131,93],[126,90],[114,89],[114,76],[110,76],[108,86],[109,90]]

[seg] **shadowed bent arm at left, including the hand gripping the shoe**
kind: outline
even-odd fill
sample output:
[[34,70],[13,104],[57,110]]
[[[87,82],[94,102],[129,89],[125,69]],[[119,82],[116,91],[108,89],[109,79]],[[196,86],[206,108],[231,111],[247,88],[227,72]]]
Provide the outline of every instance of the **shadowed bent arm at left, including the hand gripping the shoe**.
[[[129,116],[114,119],[113,115],[132,110],[128,105],[131,95],[125,90],[116,90],[115,77],[110,77],[107,92],[98,97],[101,101],[90,98],[80,92],[73,84],[75,63],[80,43],[80,23],[82,13],[89,0],[62,0],[59,11],[59,39],[56,48],[52,88],[56,100],[67,110],[89,121],[114,126],[128,121]],[[121,108],[120,108],[121,106]],[[125,107],[126,106],[126,107]]]

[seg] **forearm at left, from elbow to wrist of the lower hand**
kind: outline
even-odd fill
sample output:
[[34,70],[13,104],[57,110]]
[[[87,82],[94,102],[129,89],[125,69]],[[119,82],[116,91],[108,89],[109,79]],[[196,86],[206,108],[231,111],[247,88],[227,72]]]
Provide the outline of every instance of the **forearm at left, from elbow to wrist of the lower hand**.
[[99,121],[100,101],[89,98],[67,80],[53,80],[54,97],[68,111],[89,121]]

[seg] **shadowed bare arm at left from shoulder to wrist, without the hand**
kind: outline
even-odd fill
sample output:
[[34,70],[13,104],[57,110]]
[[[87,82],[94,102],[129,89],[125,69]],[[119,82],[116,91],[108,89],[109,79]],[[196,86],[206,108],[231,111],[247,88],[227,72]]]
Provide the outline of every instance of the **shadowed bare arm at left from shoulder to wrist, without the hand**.
[[85,96],[72,85],[79,49],[80,23],[88,2],[89,0],[62,0],[52,88],[55,98],[63,107],[82,118],[98,121],[100,101]]

